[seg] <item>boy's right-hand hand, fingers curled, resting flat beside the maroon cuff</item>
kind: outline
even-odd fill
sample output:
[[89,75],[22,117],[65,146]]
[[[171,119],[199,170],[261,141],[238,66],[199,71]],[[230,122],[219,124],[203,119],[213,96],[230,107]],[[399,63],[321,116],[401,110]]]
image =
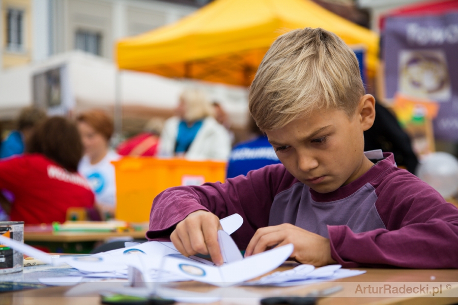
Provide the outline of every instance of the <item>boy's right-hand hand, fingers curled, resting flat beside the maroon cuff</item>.
[[245,257],[267,250],[269,247],[294,245],[292,258],[303,264],[324,266],[336,263],[331,257],[329,239],[292,224],[257,229],[245,251]]

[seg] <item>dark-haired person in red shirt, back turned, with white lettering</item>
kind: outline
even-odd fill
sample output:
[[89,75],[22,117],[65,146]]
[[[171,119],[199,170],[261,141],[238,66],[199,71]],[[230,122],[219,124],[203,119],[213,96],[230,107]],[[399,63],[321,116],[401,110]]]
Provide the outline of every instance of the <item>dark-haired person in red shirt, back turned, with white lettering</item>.
[[46,119],[25,151],[23,156],[0,161],[0,189],[15,198],[11,204],[1,200],[11,221],[64,222],[69,207],[94,206],[87,180],[77,173],[83,147],[73,123],[57,116]]

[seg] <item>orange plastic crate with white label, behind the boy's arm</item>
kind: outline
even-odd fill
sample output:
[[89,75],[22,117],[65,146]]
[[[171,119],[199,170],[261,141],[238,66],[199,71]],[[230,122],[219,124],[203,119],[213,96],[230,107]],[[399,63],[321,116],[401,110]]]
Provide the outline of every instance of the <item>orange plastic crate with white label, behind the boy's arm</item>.
[[124,157],[112,164],[116,172],[115,217],[127,222],[149,221],[153,199],[165,189],[223,182],[226,176],[225,162]]

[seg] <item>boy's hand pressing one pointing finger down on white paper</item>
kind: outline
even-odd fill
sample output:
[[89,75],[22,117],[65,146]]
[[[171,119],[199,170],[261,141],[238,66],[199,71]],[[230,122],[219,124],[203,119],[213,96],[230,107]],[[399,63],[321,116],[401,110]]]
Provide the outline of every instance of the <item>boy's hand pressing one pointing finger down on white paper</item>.
[[218,244],[219,218],[211,212],[198,210],[179,222],[170,234],[170,240],[184,256],[197,253],[208,255],[220,266],[223,264]]

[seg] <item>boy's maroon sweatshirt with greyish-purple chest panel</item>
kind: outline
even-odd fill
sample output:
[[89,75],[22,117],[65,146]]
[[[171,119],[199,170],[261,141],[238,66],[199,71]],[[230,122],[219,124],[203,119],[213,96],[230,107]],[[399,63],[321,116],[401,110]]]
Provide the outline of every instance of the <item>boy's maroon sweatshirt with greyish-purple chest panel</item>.
[[258,228],[290,223],[327,237],[344,267],[458,268],[458,209],[385,153],[361,177],[331,193],[313,191],[282,164],[247,176],[170,188],[153,202],[149,239],[163,239],[196,210],[238,213],[232,234],[245,249]]

